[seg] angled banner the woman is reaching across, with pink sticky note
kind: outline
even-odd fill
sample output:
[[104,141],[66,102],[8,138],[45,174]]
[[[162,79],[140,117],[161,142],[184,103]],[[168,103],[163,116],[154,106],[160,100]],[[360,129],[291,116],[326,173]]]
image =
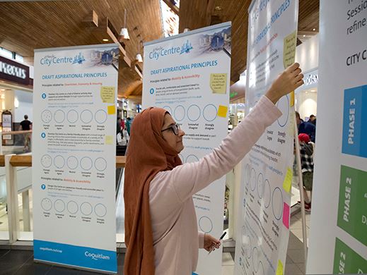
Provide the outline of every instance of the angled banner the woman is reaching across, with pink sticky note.
[[[294,62],[298,1],[252,1],[248,11],[246,113]],[[284,274],[293,173],[294,96],[243,160],[235,274]]]

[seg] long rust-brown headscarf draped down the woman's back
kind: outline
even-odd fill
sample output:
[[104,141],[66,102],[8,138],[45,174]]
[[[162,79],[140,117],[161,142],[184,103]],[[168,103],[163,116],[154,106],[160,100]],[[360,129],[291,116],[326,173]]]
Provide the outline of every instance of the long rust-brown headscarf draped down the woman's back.
[[182,164],[161,130],[168,111],[148,108],[132,123],[124,178],[125,244],[124,274],[153,275],[154,250],[149,184],[160,171]]

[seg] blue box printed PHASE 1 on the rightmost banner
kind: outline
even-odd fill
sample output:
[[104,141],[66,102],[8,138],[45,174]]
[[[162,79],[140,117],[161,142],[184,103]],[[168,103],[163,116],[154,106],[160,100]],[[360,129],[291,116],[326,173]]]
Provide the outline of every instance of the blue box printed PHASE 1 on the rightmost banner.
[[367,85],[344,90],[342,152],[367,157]]

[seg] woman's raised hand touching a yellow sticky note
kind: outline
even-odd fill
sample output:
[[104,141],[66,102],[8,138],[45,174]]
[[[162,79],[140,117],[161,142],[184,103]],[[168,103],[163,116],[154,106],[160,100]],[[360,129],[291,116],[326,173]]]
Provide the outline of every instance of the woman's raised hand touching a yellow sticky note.
[[281,97],[296,90],[301,85],[303,85],[301,68],[299,68],[298,63],[293,63],[274,80],[265,96],[276,104]]

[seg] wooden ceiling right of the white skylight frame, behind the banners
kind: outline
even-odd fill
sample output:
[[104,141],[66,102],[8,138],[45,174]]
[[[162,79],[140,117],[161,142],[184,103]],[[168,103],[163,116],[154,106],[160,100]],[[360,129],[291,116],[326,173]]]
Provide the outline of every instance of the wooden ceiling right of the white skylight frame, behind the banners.
[[[231,80],[245,70],[247,56],[247,10],[251,0],[181,0],[180,32],[232,21]],[[319,0],[299,0],[298,37],[318,32]],[[313,31],[315,29],[315,31]]]

